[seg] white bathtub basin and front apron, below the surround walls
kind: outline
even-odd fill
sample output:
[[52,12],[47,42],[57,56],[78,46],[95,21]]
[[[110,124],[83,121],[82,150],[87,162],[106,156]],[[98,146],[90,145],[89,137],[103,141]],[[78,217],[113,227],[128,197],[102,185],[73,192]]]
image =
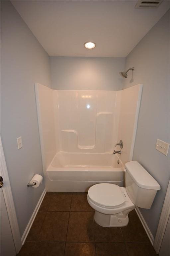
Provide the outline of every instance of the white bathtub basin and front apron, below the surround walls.
[[84,192],[97,183],[123,186],[123,181],[122,162],[113,153],[59,152],[45,175],[47,191]]

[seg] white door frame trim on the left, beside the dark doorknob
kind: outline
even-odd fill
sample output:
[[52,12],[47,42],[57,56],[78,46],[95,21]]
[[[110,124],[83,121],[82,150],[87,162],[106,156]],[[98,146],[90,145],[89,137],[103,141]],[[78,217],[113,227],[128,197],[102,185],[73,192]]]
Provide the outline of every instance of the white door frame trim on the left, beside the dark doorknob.
[[6,209],[8,213],[9,223],[11,226],[16,253],[18,253],[22,247],[21,235],[19,231],[18,220],[17,220],[16,211],[15,211],[15,205],[14,205],[14,200],[12,196],[12,190],[11,190],[10,180],[8,176],[7,165],[6,165],[4,151],[2,147],[2,141],[0,142],[0,144],[1,144],[0,145],[1,176],[3,177],[3,181],[5,181],[1,189],[4,195],[4,200],[5,200]]

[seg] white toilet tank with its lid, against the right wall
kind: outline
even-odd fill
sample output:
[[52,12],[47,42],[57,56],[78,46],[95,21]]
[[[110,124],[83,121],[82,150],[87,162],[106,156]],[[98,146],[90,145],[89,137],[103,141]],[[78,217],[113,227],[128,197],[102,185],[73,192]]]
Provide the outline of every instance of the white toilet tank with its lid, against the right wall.
[[125,168],[126,191],[131,201],[138,207],[150,209],[160,185],[137,161],[126,163]]

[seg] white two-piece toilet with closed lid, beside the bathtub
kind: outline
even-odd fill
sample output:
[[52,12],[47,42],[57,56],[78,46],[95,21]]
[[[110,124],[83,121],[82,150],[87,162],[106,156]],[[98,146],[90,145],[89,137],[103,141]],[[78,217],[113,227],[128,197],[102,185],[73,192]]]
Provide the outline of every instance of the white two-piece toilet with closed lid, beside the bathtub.
[[95,209],[94,219],[103,227],[128,225],[128,213],[135,206],[149,209],[160,185],[137,162],[125,164],[126,188],[100,183],[88,190],[87,201]]

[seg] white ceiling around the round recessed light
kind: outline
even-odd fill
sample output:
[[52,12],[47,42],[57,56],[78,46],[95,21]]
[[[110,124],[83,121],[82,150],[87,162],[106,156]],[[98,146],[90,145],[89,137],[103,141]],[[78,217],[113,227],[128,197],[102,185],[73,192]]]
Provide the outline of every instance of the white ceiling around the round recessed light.
[[[126,57],[170,8],[137,1],[11,1],[49,56]],[[85,49],[86,41],[96,48]]]

